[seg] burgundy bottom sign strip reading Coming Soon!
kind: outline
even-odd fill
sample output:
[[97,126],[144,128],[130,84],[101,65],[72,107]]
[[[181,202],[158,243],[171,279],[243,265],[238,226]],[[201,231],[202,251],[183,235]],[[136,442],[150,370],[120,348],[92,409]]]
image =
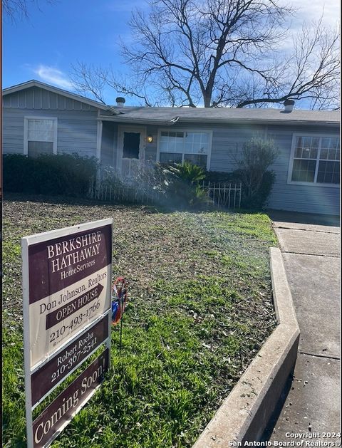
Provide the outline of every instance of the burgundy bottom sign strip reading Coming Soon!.
[[[33,447],[41,448],[78,412],[108,370],[109,350],[91,363],[33,422]],[[56,437],[56,436],[55,436]]]

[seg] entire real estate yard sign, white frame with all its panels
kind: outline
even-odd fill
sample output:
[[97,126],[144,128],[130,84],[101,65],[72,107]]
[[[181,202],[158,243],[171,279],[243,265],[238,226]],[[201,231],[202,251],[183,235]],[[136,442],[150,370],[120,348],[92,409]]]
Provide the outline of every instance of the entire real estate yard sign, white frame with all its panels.
[[[21,239],[28,448],[48,447],[110,366],[112,235],[103,219]],[[33,409],[103,344],[33,422]]]

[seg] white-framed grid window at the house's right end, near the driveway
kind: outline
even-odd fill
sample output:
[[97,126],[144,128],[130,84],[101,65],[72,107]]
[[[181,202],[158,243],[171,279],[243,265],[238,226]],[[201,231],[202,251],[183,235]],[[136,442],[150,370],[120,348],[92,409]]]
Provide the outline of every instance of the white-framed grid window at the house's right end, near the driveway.
[[290,182],[338,185],[340,139],[296,135],[291,162]]

